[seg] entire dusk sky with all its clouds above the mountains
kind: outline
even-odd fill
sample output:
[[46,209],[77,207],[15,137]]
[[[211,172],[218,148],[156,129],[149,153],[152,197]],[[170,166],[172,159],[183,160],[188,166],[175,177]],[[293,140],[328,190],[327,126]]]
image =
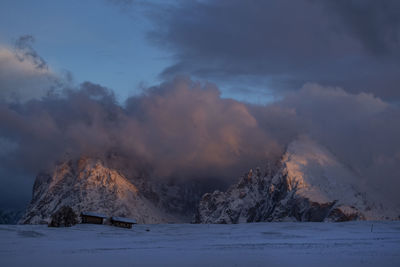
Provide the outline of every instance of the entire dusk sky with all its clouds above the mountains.
[[400,203],[399,48],[396,0],[4,0],[0,208],[66,154],[231,183],[299,135]]

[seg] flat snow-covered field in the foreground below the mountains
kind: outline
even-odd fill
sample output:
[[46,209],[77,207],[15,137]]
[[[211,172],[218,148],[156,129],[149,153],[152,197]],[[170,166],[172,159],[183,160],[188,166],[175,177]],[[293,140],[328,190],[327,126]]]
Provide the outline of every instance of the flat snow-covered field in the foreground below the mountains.
[[400,222],[0,225],[2,267],[278,265],[400,266]]

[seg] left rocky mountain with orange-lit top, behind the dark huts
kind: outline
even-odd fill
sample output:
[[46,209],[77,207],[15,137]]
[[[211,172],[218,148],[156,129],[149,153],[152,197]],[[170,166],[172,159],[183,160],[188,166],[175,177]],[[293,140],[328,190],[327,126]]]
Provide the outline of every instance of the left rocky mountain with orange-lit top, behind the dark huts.
[[135,218],[139,223],[177,220],[159,207],[157,195],[152,199],[145,196],[146,192],[140,192],[120,172],[105,167],[100,160],[67,161],[58,165],[52,175],[38,175],[32,201],[20,223],[48,223],[51,215],[64,205],[78,214],[96,211]]

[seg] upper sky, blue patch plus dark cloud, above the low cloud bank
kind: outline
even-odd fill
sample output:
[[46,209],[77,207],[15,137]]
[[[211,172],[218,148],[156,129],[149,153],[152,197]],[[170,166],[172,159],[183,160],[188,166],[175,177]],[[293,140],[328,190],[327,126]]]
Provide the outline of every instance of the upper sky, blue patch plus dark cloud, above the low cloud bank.
[[400,98],[400,7],[393,0],[2,5],[2,46],[31,35],[52,70],[112,88],[120,101],[179,74],[258,104],[306,82]]

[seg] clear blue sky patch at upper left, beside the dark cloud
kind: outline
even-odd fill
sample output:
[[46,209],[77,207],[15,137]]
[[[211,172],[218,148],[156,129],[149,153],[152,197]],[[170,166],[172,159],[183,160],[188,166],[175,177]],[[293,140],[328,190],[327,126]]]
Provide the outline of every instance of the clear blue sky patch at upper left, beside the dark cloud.
[[165,51],[149,45],[148,20],[106,1],[2,1],[0,42],[12,47],[18,37],[35,37],[34,48],[56,72],[74,81],[114,89],[119,100],[140,85],[159,82],[170,64]]

